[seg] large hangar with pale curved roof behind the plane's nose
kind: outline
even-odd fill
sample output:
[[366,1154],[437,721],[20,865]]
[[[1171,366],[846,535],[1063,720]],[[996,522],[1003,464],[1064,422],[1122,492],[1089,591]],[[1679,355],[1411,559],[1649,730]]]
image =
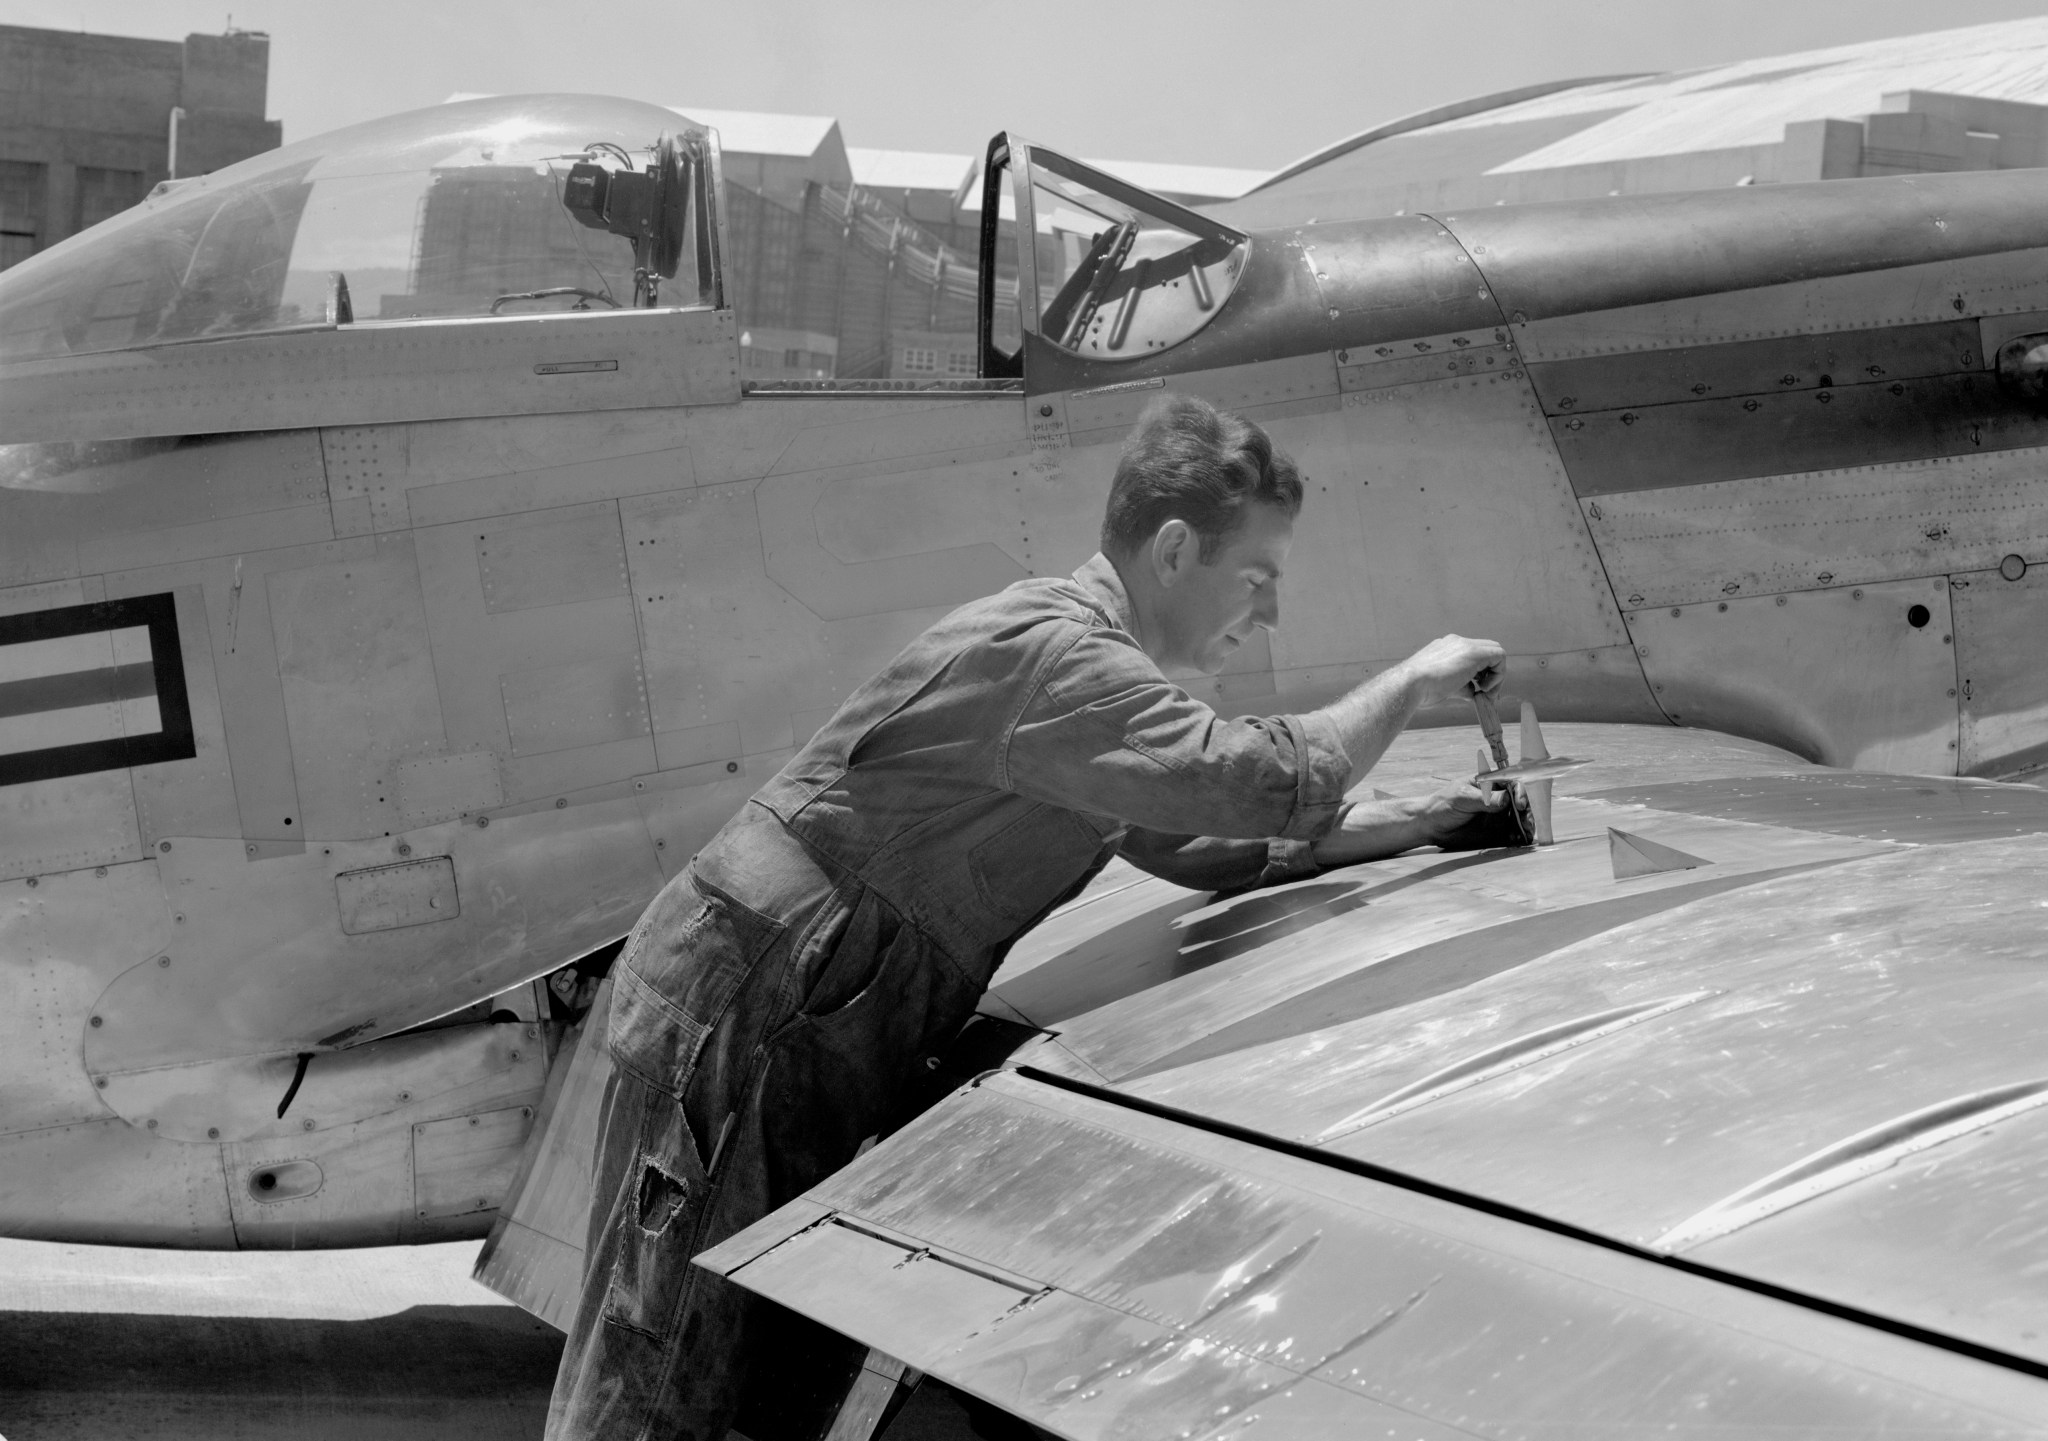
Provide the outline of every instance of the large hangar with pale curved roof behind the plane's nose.
[[2048,18],[1444,104],[1219,207],[1243,225],[2048,164]]

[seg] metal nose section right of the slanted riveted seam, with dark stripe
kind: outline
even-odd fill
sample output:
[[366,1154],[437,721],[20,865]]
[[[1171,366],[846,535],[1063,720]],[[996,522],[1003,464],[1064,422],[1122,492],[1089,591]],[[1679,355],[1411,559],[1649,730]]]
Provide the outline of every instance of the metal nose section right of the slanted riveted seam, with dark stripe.
[[1995,356],[2048,325],[2044,203],[2032,174],[1927,176],[1444,217],[1673,720],[1866,770],[2040,766],[2048,690],[2009,639],[2048,618],[2015,583],[2048,555],[2048,420]]

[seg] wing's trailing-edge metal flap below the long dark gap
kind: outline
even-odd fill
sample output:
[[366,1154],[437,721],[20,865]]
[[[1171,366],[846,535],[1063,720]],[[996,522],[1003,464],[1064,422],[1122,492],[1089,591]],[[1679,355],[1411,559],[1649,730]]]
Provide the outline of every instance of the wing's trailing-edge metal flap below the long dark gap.
[[1014,1071],[700,1263],[1075,1439],[2028,1435],[2044,1394]]

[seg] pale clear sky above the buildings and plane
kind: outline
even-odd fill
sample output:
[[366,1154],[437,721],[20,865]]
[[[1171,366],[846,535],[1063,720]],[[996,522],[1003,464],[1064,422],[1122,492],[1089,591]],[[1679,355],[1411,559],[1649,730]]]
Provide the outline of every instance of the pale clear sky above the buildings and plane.
[[1270,170],[1450,100],[2048,14],[2048,0],[0,0],[0,23],[270,33],[285,139],[451,92],[834,115],[848,145]]

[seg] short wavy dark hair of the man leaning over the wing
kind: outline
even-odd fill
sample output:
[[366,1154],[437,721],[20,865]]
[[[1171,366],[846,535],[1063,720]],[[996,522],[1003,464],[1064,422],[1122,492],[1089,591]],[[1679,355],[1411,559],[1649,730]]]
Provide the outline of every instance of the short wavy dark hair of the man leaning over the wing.
[[1135,555],[1167,520],[1186,520],[1212,561],[1260,501],[1300,514],[1300,471],[1243,416],[1196,395],[1161,395],[1124,442],[1102,516],[1102,551]]

